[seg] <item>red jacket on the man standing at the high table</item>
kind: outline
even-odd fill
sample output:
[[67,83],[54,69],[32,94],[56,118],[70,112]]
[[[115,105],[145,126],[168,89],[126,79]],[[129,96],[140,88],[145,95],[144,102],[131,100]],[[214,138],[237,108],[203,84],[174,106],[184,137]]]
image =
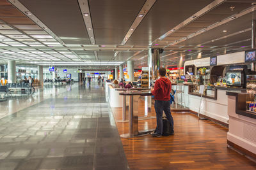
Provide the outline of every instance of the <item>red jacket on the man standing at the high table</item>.
[[170,101],[170,94],[172,90],[172,83],[168,78],[159,78],[155,82],[152,94],[157,101]]

